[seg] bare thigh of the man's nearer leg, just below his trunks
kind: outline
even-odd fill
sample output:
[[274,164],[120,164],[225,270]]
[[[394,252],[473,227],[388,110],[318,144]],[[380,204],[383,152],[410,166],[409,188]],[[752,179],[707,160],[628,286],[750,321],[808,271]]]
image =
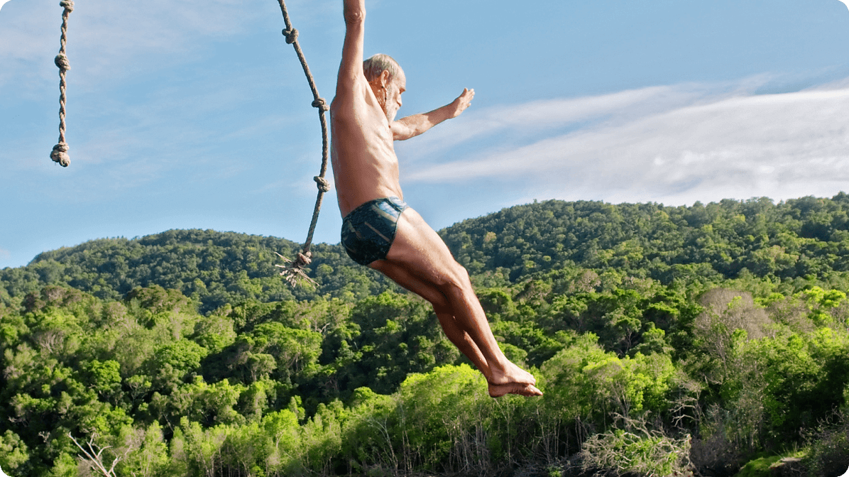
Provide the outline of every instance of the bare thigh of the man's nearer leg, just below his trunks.
[[462,270],[439,234],[411,208],[404,210],[398,220],[386,260],[436,286],[457,283]]

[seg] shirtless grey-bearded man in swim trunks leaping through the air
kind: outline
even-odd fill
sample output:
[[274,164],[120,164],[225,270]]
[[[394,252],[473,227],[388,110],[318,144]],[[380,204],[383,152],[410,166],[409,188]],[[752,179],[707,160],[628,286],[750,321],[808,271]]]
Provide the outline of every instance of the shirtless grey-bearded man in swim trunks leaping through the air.
[[331,153],[342,244],[354,261],[430,301],[449,340],[486,377],[489,394],[542,396],[530,373],[509,362],[492,336],[469,273],[419,213],[403,202],[393,141],[402,141],[469,107],[474,90],[451,104],[395,121],[407,79],[394,59],[363,62],[365,0],[344,0],[345,45],[330,105]]

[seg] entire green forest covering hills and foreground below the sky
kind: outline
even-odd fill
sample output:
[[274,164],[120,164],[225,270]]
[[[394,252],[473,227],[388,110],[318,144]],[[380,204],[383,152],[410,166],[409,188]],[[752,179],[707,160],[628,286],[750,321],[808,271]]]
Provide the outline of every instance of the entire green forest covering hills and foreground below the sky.
[[548,201],[442,231],[538,399],[486,396],[429,306],[339,246],[317,246],[318,287],[295,290],[273,267],[295,250],[282,239],[169,231],[45,252],[0,271],[0,467],[758,475],[792,455],[841,475],[847,212],[846,194]]

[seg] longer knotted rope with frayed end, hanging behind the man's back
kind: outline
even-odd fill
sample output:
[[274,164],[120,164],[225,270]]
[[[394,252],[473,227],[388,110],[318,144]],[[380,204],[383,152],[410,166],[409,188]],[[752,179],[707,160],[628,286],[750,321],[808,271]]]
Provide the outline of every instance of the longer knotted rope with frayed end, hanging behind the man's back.
[[316,82],[312,79],[310,67],[306,65],[306,59],[304,58],[304,53],[301,51],[301,45],[298,44],[298,31],[295,30],[295,28],[292,28],[292,23],[289,20],[289,14],[286,12],[286,4],[284,3],[284,0],[278,0],[278,3],[280,3],[280,10],[283,12],[283,21],[286,25],[286,28],[283,31],[283,35],[286,37],[286,42],[295,47],[295,53],[297,53],[298,59],[301,60],[301,67],[303,67],[304,69],[306,81],[310,83],[310,89],[312,90],[312,107],[318,108],[318,121],[321,121],[322,134],[321,171],[318,173],[318,176],[312,178],[318,185],[318,197],[316,198],[315,209],[312,211],[312,222],[310,222],[309,232],[306,233],[306,242],[304,243],[304,248],[303,250],[301,250],[301,252],[298,252],[295,261],[290,261],[283,255],[277,254],[280,258],[284,259],[284,261],[287,261],[289,263],[287,265],[274,266],[283,268],[283,271],[280,272],[280,276],[282,276],[287,282],[290,283],[290,285],[294,287],[298,283],[299,277],[306,278],[306,280],[315,283],[312,278],[306,276],[306,272],[304,272],[304,267],[308,266],[312,261],[312,253],[310,252],[310,245],[312,244],[312,233],[314,233],[316,229],[316,223],[318,222],[318,211],[321,210],[321,201],[323,199],[324,193],[330,190],[330,182],[324,178],[324,174],[327,173],[327,162],[329,153],[327,120],[324,118],[324,111],[329,111],[330,106],[327,104],[327,101],[325,101],[324,98],[318,95],[318,88],[316,87]]

